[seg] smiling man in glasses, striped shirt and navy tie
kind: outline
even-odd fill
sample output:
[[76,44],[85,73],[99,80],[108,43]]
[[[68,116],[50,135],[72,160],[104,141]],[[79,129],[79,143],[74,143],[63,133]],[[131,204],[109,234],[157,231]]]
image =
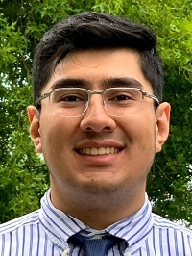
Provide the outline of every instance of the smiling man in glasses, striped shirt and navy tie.
[[81,13],[44,35],[28,115],[51,189],[1,225],[2,256],[192,255],[192,232],[152,214],[145,192],[169,133],[162,87],[149,28]]

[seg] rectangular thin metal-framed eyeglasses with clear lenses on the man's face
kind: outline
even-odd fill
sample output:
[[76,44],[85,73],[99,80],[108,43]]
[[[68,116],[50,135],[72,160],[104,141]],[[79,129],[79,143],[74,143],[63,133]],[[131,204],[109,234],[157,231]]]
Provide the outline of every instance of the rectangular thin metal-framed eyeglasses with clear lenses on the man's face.
[[36,101],[36,107],[40,108],[40,101],[49,98],[51,109],[56,115],[64,117],[78,117],[84,115],[91,96],[100,94],[103,105],[109,115],[123,117],[138,113],[142,109],[144,98],[159,100],[155,95],[137,88],[109,88],[106,90],[86,90],[83,88],[60,88],[44,93]]

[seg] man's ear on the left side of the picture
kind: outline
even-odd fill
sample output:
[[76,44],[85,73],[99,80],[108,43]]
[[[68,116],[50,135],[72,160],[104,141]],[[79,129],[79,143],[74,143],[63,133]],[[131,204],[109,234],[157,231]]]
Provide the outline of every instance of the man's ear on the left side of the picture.
[[36,153],[42,153],[41,137],[40,137],[40,115],[35,106],[29,106],[27,108],[28,117],[30,121],[30,137],[34,142]]

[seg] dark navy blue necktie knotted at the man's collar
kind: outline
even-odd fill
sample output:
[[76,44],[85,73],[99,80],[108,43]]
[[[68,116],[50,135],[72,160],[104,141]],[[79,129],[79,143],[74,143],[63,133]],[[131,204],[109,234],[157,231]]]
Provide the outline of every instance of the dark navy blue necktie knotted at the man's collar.
[[105,256],[115,244],[125,242],[125,240],[114,236],[104,236],[102,239],[88,239],[80,234],[72,236],[68,241],[83,248],[85,256]]

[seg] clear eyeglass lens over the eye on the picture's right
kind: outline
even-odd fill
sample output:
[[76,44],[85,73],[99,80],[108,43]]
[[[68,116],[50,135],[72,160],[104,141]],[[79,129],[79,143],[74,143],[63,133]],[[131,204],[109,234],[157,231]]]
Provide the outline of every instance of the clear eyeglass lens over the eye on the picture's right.
[[132,115],[141,108],[142,92],[136,89],[111,89],[105,92],[104,101],[109,115]]

